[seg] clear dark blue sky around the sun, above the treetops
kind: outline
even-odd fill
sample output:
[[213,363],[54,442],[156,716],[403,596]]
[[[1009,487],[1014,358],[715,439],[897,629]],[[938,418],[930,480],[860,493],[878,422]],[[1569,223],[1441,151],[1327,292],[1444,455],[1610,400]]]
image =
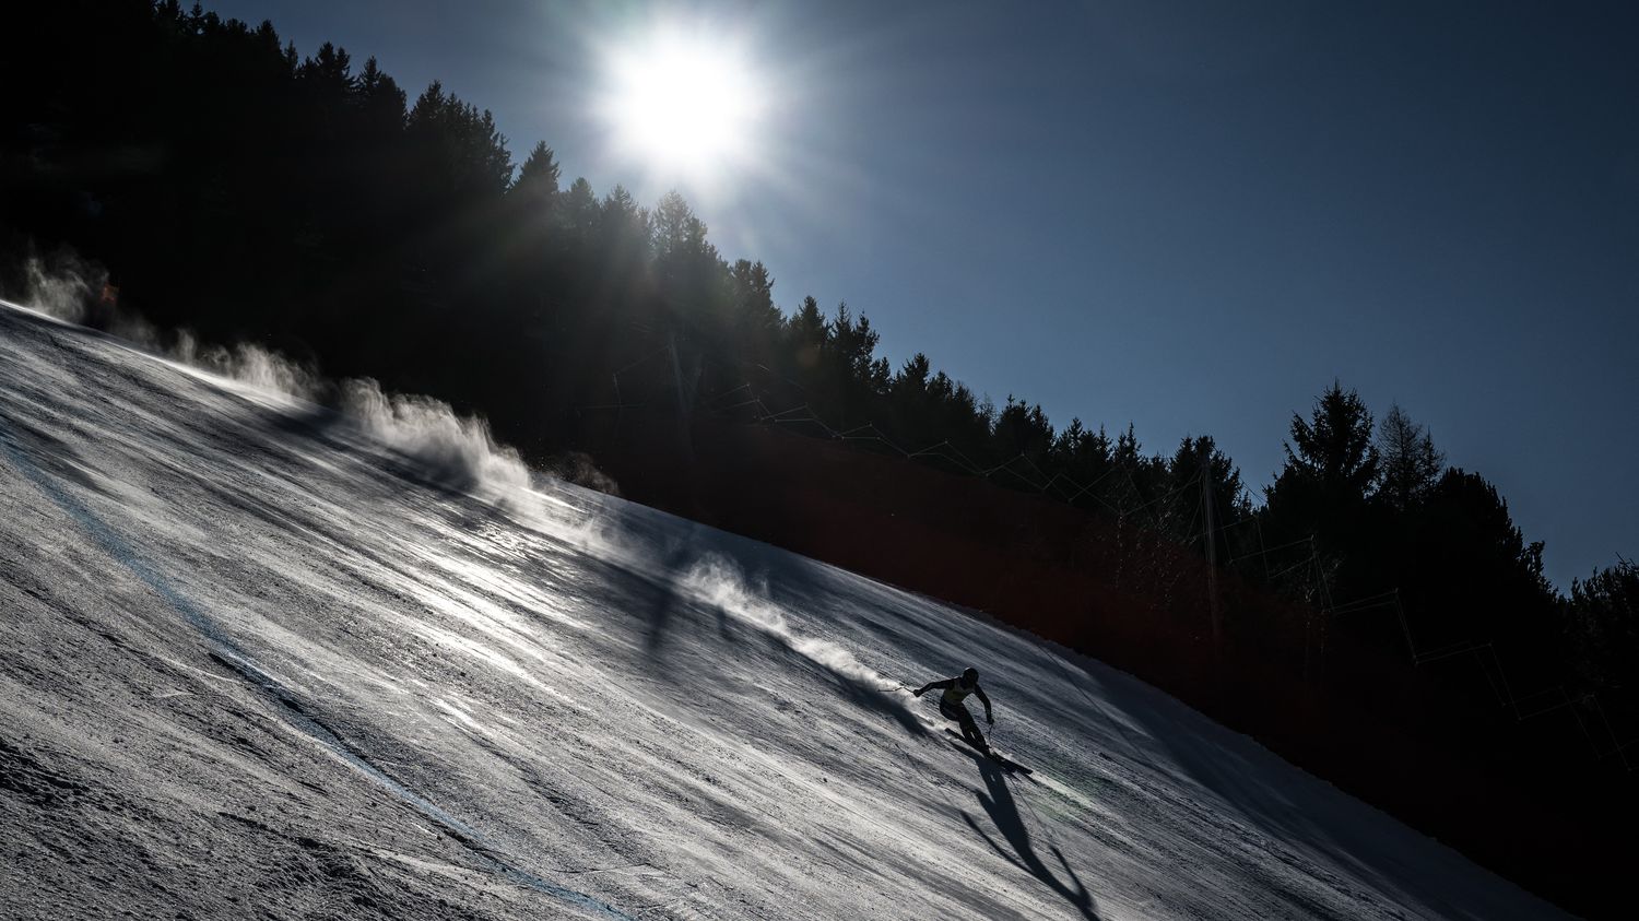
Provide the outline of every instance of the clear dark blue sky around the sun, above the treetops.
[[[1639,15],[1542,3],[216,0],[490,108],[521,161],[677,187],[775,298],[846,300],[1056,424],[1213,434],[1270,480],[1339,379],[1498,485],[1549,575],[1639,554]],[[756,164],[590,111],[657,18],[767,79]]]

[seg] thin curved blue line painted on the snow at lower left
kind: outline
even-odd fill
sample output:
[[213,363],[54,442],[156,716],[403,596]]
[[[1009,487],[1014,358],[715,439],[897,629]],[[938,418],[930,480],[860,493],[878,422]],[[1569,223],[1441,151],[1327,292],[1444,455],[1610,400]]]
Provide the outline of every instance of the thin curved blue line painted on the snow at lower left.
[[528,870],[520,870],[506,860],[497,857],[495,849],[490,847],[484,836],[472,829],[469,824],[462,823],[456,816],[446,813],[436,803],[426,796],[410,790],[403,783],[398,783],[392,777],[382,772],[362,755],[354,752],[347,742],[341,739],[329,726],[325,726],[313,716],[310,716],[295,696],[285,690],[272,675],[256,667],[251,657],[239,649],[228,636],[221,631],[221,626],[210,618],[205,611],[198,608],[193,601],[187,598],[175,585],[170,583],[157,569],[148,564],[129,542],[125,541],[113,528],[110,528],[102,518],[97,516],[90,508],[87,508],[80,500],[74,498],[62,490],[51,479],[49,474],[39,469],[28,454],[13,441],[11,426],[7,424],[5,416],[0,416],[0,447],[5,449],[7,457],[11,459],[11,465],[16,467],[25,477],[34,482],[43,493],[46,493],[51,501],[54,501],[62,511],[66,511],[74,521],[90,534],[113,559],[131,570],[133,575],[143,580],[156,595],[166,600],[182,618],[197,629],[215,649],[211,657],[223,665],[233,669],[244,680],[256,685],[257,690],[266,693],[277,703],[284,711],[290,724],[302,729],[313,741],[320,742],[333,754],[356,767],[361,774],[374,780],[384,790],[403,800],[415,811],[421,813],[428,819],[438,823],[444,831],[472,851],[479,859],[488,864],[490,870],[498,872],[502,877],[520,883],[523,887],[533,888],[536,892],[551,895],[570,905],[579,905],[580,908],[605,914],[608,918],[618,918],[621,921],[636,921],[631,914],[606,905],[583,892],[577,892],[557,883],[547,882]]

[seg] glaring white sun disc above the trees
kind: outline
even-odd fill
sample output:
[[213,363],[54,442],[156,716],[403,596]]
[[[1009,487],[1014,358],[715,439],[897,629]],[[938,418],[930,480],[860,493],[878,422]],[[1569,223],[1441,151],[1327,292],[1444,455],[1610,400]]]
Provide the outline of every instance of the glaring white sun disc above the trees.
[[729,43],[677,33],[610,56],[603,116],[652,169],[720,174],[756,147],[762,87]]

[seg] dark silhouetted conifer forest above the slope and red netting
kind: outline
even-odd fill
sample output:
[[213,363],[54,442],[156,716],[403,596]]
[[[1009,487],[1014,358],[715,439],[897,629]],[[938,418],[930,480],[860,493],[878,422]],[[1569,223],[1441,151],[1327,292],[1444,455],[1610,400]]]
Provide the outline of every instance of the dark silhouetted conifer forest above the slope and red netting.
[[1334,382],[1293,415],[1285,464],[1254,497],[1211,436],[1152,454],[1131,424],[1111,436],[1013,395],[995,406],[923,354],[893,367],[846,303],[777,306],[767,267],[720,254],[680,195],[598,195],[565,182],[546,143],[516,164],[492,115],[436,82],[411,98],[374,59],[331,44],[303,57],[270,23],[177,0],[33,16],[0,39],[15,88],[0,243],[13,261],[59,246],[98,259],[159,324],[438,395],[534,457],[582,444],[597,406],[634,393],[747,421],[803,406],[818,434],[869,426],[929,449],[921,462],[995,470],[1318,608],[1398,590],[1401,623],[1351,628],[1367,642],[1490,641],[1516,654],[1523,687],[1616,692],[1639,674],[1639,569],[1619,560],[1560,595],[1496,487],[1447,465],[1400,406],[1378,420]]

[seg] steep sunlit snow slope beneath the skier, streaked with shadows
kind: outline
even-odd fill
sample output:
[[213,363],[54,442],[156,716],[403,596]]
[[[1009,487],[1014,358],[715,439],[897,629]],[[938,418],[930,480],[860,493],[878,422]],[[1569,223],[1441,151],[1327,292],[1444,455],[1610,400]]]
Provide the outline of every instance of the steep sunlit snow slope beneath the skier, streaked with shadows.
[[[0,916],[1562,916],[1095,660],[393,431],[0,308]],[[969,664],[1033,775],[901,685]]]

